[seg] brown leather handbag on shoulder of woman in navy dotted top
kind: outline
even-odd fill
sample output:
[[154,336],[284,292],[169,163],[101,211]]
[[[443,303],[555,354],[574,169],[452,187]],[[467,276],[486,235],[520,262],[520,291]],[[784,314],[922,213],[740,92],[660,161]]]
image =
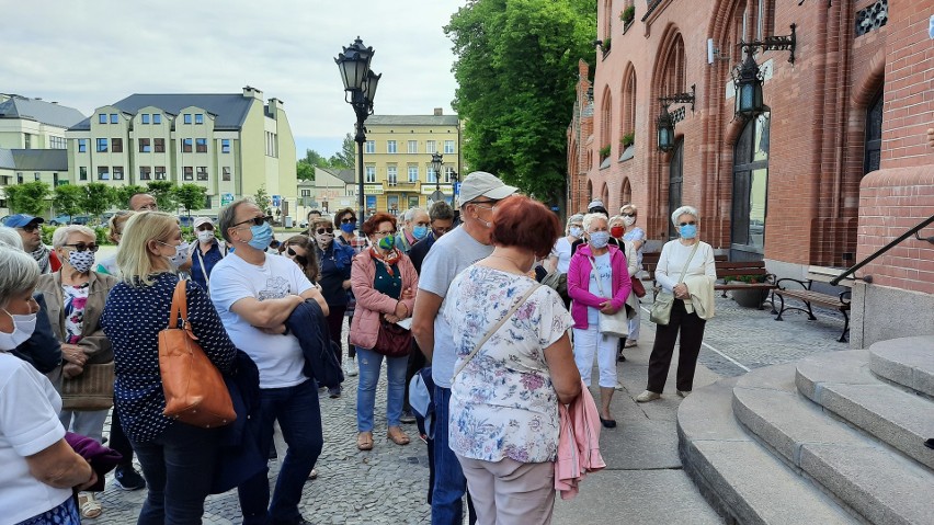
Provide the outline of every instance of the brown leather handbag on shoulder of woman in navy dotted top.
[[159,332],[159,372],[166,416],[203,429],[228,425],[237,419],[220,370],[192,332],[184,281],[179,281],[172,295],[169,327]]

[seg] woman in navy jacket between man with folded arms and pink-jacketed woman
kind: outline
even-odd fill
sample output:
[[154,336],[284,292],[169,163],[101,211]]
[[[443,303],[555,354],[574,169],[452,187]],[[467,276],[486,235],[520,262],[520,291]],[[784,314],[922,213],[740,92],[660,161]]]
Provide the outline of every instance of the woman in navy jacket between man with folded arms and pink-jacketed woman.
[[[344,322],[344,310],[348,306],[348,290],[351,287],[351,261],[354,256],[353,248],[334,242],[334,224],[330,219],[319,218],[310,226],[318,243],[316,255],[320,266],[318,284],[321,285],[321,295],[328,303],[328,330],[331,332],[331,341],[341,347],[341,331]],[[338,363],[341,363],[343,352],[338,354]],[[341,397],[341,387],[328,390],[330,397]]]

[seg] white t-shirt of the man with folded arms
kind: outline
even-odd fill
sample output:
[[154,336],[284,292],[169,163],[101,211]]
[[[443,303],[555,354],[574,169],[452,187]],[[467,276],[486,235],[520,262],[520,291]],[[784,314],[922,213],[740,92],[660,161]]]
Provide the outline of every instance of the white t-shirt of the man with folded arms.
[[305,356],[294,335],[269,334],[251,326],[230,308],[240,299],[281,299],[300,295],[311,283],[301,269],[281,255],[265,255],[261,266],[237,252],[220,260],[210,272],[210,300],[234,344],[260,369],[260,388],[285,388],[305,383]]

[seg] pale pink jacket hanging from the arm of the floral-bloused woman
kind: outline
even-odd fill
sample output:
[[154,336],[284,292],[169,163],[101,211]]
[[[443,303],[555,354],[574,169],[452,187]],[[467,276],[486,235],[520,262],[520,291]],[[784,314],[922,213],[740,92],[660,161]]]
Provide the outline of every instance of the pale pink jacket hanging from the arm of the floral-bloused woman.
[[555,490],[562,500],[578,495],[578,483],[586,472],[606,467],[600,455],[600,414],[586,385],[581,381],[581,393],[567,408],[558,403],[560,432],[558,459],[555,461]]

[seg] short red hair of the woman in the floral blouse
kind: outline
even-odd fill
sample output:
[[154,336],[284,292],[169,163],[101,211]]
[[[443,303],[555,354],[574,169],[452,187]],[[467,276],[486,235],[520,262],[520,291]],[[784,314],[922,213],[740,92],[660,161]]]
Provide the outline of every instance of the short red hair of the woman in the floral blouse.
[[538,201],[512,195],[496,205],[490,233],[493,244],[526,248],[543,258],[551,253],[560,235],[558,217]]

